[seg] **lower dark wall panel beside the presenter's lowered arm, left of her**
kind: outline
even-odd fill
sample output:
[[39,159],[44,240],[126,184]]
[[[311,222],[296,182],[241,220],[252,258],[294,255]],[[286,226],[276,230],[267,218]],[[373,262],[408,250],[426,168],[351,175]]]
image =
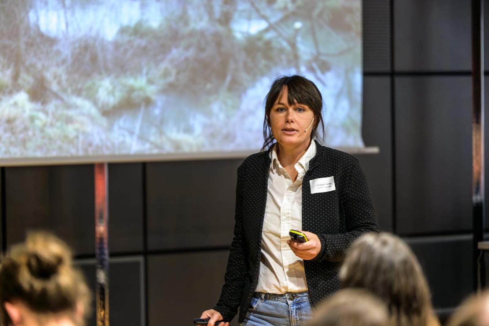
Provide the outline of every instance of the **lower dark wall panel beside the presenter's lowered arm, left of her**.
[[[192,325],[202,311],[216,305],[228,256],[227,250],[150,256],[148,260],[149,326]],[[171,295],[168,295],[170,294]],[[234,318],[232,326],[238,325]]]

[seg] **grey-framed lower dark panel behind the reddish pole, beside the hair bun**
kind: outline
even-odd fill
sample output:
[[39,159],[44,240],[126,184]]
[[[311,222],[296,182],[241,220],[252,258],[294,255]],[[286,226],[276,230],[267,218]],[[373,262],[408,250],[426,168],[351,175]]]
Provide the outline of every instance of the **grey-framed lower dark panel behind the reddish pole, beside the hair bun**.
[[[95,298],[95,261],[77,260],[75,264],[82,269]],[[111,258],[109,282],[110,324],[145,326],[143,258]],[[95,301],[92,306],[95,307]],[[87,326],[96,326],[95,309],[91,312]]]

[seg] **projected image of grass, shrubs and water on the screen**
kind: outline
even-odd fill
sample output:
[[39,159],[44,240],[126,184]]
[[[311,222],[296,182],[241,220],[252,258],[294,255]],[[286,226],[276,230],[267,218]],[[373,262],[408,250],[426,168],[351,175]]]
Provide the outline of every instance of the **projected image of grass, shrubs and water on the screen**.
[[0,0],[0,158],[259,150],[271,81],[361,139],[360,0]]

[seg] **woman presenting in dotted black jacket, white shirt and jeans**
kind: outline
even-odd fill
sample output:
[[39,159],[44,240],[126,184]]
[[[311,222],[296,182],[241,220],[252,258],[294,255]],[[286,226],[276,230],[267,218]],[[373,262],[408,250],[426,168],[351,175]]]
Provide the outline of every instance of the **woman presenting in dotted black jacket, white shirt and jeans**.
[[[238,168],[234,238],[208,326],[302,325],[339,289],[345,250],[378,232],[358,160],[321,146],[322,96],[301,76],[277,78],[266,97],[262,151]],[[289,230],[308,241],[290,240]],[[218,322],[223,321],[223,322]]]

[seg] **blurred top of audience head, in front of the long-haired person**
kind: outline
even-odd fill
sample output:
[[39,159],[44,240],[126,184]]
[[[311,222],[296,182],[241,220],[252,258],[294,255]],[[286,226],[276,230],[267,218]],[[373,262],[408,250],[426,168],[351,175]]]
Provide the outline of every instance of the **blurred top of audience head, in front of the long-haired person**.
[[389,313],[369,291],[342,289],[315,311],[308,326],[389,326]]

